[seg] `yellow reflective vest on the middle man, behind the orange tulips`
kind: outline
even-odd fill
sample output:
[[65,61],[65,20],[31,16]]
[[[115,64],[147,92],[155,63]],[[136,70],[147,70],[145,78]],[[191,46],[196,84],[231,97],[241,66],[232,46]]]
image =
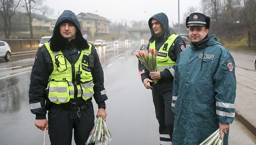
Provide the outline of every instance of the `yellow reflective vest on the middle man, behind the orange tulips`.
[[[175,39],[178,37],[176,34],[172,34],[168,37],[167,41],[159,48],[156,56],[156,69],[157,71],[163,71],[164,69],[170,69],[176,62],[172,61],[168,55],[169,49],[174,43]],[[149,48],[156,49],[156,41],[149,43]]]

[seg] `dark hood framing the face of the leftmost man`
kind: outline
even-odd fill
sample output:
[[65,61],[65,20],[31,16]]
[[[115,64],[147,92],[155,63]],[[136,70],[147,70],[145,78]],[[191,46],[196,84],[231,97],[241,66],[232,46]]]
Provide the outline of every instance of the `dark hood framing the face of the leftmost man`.
[[[63,22],[72,23],[76,27],[75,39],[72,39],[71,42],[68,42],[68,40],[62,37],[60,34],[60,24],[62,24]],[[53,29],[53,36],[52,38],[50,38],[50,49],[52,51],[59,51],[59,50],[65,49],[69,45],[75,45],[75,47],[80,49],[89,48],[89,45],[86,39],[82,37],[81,27],[80,27],[78,18],[76,17],[74,12],[70,10],[65,10],[57,19],[57,22]]]

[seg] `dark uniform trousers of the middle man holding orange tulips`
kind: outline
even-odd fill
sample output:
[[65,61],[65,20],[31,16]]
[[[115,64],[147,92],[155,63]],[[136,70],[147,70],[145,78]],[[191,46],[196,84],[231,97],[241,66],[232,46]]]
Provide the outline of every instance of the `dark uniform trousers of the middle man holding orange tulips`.
[[157,84],[153,84],[152,88],[159,134],[170,135],[170,139],[160,136],[160,141],[171,141],[174,130],[174,113],[171,111],[172,86],[172,80],[158,81]]

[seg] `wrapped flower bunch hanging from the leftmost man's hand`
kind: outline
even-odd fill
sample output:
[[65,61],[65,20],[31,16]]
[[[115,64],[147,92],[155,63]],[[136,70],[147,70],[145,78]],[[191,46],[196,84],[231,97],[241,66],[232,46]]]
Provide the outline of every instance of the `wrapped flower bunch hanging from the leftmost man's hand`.
[[110,143],[111,140],[112,136],[110,134],[110,131],[108,131],[103,118],[99,116],[85,144],[87,145],[95,143],[99,145],[107,145],[108,143]]

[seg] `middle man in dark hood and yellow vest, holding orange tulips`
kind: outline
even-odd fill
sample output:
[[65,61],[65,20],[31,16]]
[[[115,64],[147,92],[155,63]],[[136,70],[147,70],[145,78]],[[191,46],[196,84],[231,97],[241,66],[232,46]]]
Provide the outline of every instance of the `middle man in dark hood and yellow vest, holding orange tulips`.
[[[149,19],[151,38],[148,49],[156,49],[157,71],[149,72],[142,65],[142,82],[146,89],[152,89],[153,104],[159,123],[160,144],[171,144],[174,127],[174,114],[171,111],[172,82],[174,66],[178,55],[185,49],[180,36],[171,34],[168,17],[164,13],[153,15]],[[153,84],[152,79],[158,80]]]

